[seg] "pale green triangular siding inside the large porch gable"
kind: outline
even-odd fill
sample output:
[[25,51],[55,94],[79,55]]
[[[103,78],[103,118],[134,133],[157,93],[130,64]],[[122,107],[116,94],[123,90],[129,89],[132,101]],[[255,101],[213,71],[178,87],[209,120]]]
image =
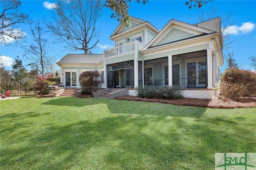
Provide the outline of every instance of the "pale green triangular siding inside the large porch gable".
[[178,40],[183,40],[185,38],[190,38],[194,36],[196,35],[190,34],[188,32],[184,32],[182,30],[178,30],[176,28],[172,28],[172,30],[168,34],[166,34],[166,36],[164,36],[164,38],[159,43],[157,43],[156,46],[170,43],[170,42],[175,42]]

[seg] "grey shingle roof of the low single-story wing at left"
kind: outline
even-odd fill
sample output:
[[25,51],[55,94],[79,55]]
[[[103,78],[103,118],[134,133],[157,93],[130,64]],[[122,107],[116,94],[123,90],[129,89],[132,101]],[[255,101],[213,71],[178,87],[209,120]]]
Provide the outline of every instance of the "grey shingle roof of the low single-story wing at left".
[[67,54],[56,64],[73,63],[73,64],[99,64],[103,63],[103,54]]

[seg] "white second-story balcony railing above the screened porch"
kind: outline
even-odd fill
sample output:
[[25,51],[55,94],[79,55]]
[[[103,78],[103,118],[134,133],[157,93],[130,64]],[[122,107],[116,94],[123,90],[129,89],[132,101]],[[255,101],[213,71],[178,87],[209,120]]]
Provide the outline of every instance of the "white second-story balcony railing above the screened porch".
[[145,47],[144,43],[136,40],[134,42],[126,43],[124,45],[118,45],[118,47],[105,50],[104,56],[105,58],[108,58],[116,55],[127,54],[127,53],[138,51],[139,49],[142,49],[144,47]]

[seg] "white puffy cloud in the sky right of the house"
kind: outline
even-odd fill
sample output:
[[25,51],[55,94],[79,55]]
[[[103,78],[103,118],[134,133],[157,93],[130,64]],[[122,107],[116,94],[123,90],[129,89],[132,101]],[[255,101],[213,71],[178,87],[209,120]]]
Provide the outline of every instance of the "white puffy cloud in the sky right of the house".
[[224,33],[230,33],[230,34],[235,34],[235,35],[239,35],[239,34],[247,34],[252,32],[252,30],[255,29],[255,24],[252,22],[245,22],[242,23],[242,25],[239,26],[229,26]]

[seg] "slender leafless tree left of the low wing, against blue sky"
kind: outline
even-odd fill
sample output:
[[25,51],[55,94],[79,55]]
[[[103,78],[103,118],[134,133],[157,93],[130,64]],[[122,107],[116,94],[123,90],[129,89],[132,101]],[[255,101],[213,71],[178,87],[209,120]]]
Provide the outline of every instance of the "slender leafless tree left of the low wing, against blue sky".
[[48,53],[52,51],[48,47],[48,40],[44,39],[43,36],[46,33],[40,26],[40,22],[37,22],[34,27],[31,28],[33,42],[29,47],[23,46],[24,58],[33,61],[32,63],[38,65],[42,75],[44,75],[44,69],[46,66],[51,64],[54,57],[49,56]]

